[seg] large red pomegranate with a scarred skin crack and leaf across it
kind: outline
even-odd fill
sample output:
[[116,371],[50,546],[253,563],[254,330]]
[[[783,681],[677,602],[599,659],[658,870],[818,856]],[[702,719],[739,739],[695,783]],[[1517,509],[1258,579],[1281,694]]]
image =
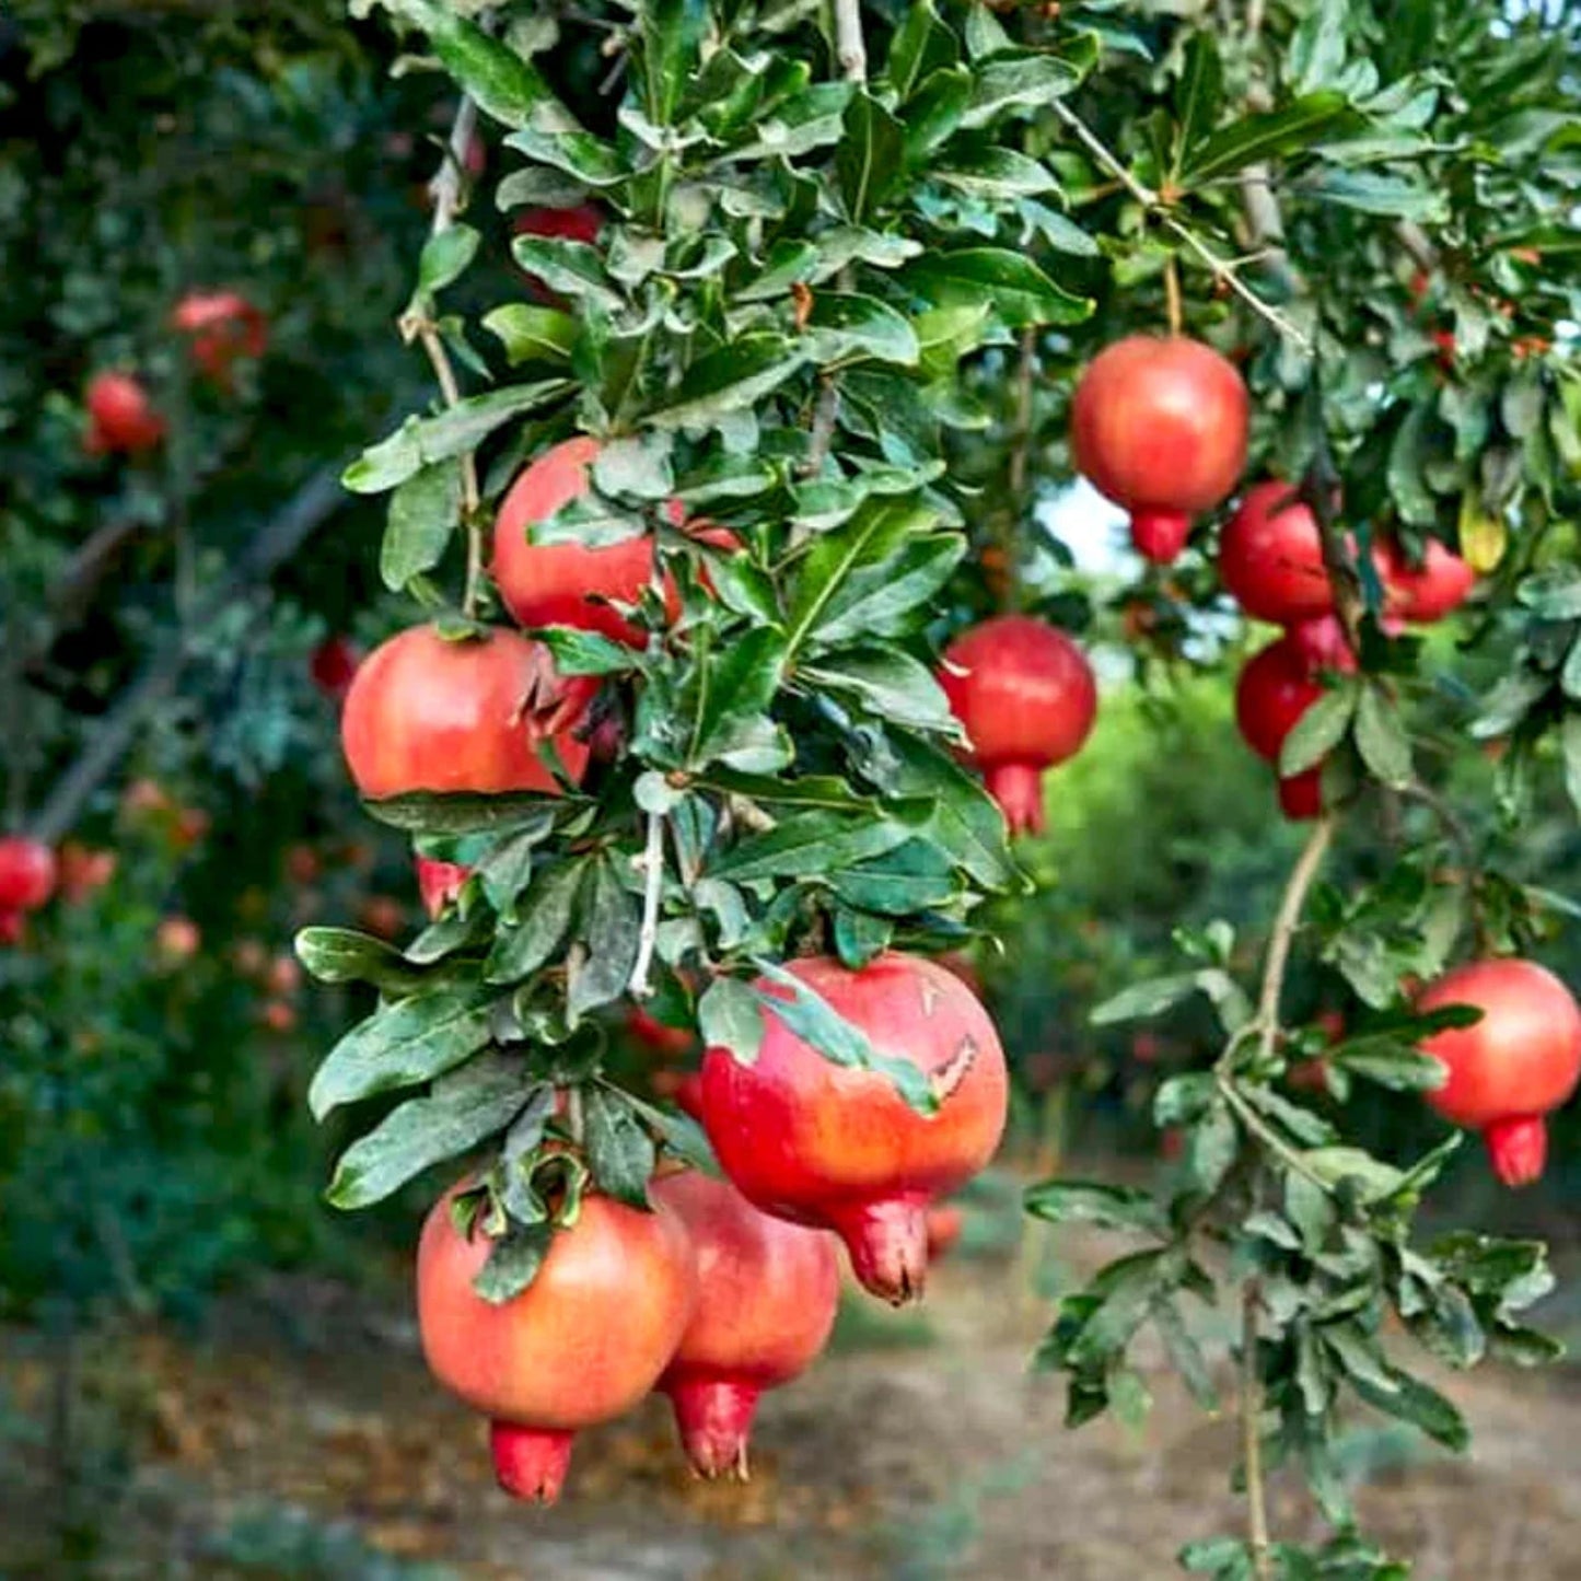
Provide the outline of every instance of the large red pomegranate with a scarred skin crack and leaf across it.
[[[922,1070],[922,1115],[877,1070],[836,1066],[772,1012],[757,1059],[710,1048],[702,1113],[726,1175],[767,1213],[827,1225],[857,1279],[895,1304],[922,1295],[926,1209],[993,1156],[1004,1130],[1004,1051],[972,991],[934,961],[881,955],[862,971],[827,957],[789,968],[889,1059]],[[759,982],[770,998],[789,990]]]

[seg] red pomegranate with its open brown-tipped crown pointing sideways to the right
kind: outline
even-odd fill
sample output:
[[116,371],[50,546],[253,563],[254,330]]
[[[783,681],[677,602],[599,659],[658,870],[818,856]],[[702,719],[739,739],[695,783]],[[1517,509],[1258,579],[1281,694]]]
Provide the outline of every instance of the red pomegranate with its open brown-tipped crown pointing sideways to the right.
[[340,740],[351,778],[373,798],[553,792],[542,745],[582,778],[588,749],[572,732],[596,685],[563,678],[545,647],[514,631],[447,642],[411,626],[367,656],[346,692]]

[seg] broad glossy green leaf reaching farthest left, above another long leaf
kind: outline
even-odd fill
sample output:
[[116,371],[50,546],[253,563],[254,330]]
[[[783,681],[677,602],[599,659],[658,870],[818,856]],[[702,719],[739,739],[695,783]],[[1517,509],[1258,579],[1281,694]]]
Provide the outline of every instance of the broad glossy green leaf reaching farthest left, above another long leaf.
[[489,1042],[490,1012],[476,985],[381,1006],[324,1056],[307,1094],[313,1118],[454,1070]]

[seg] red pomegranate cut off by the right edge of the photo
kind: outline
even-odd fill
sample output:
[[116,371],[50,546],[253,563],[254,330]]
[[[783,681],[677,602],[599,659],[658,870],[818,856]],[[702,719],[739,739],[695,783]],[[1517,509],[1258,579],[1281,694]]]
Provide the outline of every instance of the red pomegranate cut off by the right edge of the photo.
[[1423,1096],[1451,1124],[1481,1132],[1505,1186],[1529,1186],[1548,1159],[1543,1116],[1581,1080],[1581,1009],[1553,972],[1516,960],[1456,966],[1417,999],[1418,1010],[1448,1004],[1483,1015],[1423,1042],[1448,1072]]

